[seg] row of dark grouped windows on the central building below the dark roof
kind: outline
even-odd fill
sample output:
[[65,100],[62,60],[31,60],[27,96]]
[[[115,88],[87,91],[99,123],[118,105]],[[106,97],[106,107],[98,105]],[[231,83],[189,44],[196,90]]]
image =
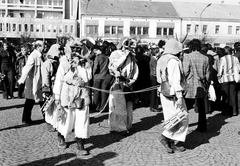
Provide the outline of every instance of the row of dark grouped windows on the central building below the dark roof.
[[[98,34],[98,25],[87,25],[87,34]],[[123,35],[123,26],[105,26],[104,34]],[[148,35],[149,27],[130,27],[130,35]],[[174,28],[157,27],[157,35],[171,36],[174,34]]]

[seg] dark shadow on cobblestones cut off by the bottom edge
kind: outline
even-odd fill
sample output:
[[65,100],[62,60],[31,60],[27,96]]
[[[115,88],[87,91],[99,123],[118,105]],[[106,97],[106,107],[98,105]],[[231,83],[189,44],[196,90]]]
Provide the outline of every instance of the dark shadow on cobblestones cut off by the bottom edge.
[[[96,156],[93,156],[92,158],[89,159],[81,159],[78,158],[76,154],[74,153],[66,153],[66,154],[61,154],[56,157],[50,157],[50,158],[45,158],[42,160],[37,160],[33,161],[30,163],[22,164],[19,166],[53,166],[53,165],[59,165],[59,166],[69,166],[69,165],[97,165],[97,166],[104,166],[104,161],[116,157],[117,154],[115,152],[104,152],[100,153]],[[66,163],[59,163],[62,161],[66,161]],[[59,164],[58,164],[59,163]]]

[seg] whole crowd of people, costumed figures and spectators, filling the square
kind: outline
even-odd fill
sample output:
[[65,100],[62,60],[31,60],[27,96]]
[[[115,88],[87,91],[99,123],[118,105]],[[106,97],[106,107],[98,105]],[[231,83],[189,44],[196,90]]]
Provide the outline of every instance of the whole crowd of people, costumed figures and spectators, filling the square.
[[[0,49],[3,98],[25,98],[22,122],[32,125],[31,112],[39,103],[49,131],[57,132],[59,148],[75,133],[78,153],[87,155],[84,141],[89,135],[92,112],[109,112],[109,132],[127,136],[132,132],[133,110],[149,107],[163,111],[164,120],[180,110],[194,108],[197,131],[207,132],[206,114],[214,110],[223,116],[239,114],[240,42],[234,48],[212,48],[192,39],[143,44],[124,39],[119,45],[92,38],[80,42],[59,41],[47,48],[43,41],[21,46],[18,53],[7,42]],[[209,86],[216,100],[209,99]],[[160,107],[161,106],[161,107]],[[184,151],[188,116],[172,128],[165,128],[159,141],[168,153]]]

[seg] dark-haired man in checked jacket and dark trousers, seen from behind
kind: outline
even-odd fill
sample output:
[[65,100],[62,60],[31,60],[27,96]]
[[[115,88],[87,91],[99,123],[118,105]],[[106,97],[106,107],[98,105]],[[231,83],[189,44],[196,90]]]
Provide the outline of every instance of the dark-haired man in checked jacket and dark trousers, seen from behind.
[[190,54],[185,54],[183,57],[183,70],[188,84],[186,94],[186,104],[188,110],[195,104],[198,110],[198,127],[197,131],[207,131],[207,118],[204,100],[208,96],[208,81],[210,77],[210,69],[208,58],[200,53],[201,42],[198,39],[193,39],[189,42]]

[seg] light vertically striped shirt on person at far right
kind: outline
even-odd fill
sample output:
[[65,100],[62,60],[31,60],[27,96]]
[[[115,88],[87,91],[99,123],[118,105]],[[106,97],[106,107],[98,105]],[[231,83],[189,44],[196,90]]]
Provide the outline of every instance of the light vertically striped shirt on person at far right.
[[218,68],[219,83],[232,82],[234,80],[234,66],[238,65],[238,59],[233,55],[225,55],[220,58]]

